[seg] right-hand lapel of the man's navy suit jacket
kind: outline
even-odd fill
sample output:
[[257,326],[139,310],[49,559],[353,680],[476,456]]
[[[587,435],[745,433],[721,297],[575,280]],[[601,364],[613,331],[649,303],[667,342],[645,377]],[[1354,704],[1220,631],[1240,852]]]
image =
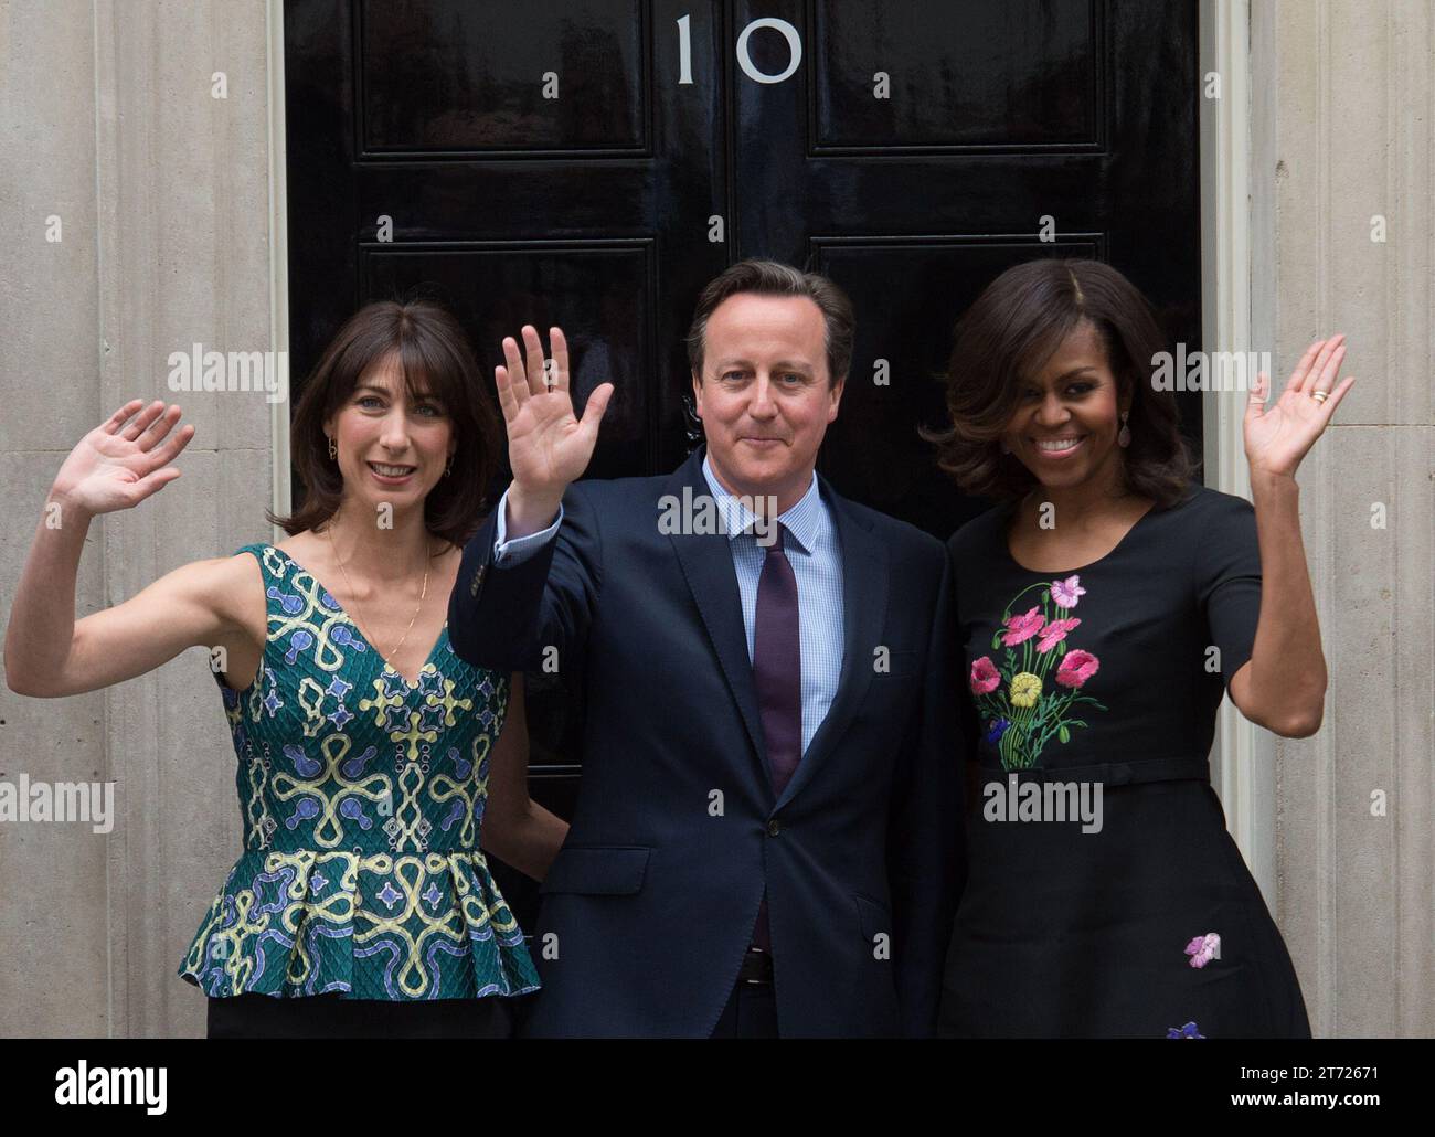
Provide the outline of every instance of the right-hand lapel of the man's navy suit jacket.
[[837,527],[842,556],[842,676],[827,718],[818,726],[812,745],[802,755],[792,781],[778,800],[779,810],[812,780],[818,765],[847,732],[848,724],[867,698],[867,688],[872,682],[872,652],[881,645],[883,622],[887,616],[887,546],[872,535],[848,502],[838,497],[821,475],[819,484],[822,500]]

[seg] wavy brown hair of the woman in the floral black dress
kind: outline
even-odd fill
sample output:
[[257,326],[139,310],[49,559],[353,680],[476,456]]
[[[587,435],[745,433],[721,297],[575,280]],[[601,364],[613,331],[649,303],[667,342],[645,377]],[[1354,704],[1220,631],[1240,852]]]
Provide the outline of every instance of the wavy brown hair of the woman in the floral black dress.
[[1175,396],[1151,382],[1152,356],[1167,350],[1167,339],[1149,301],[1109,264],[1052,258],[1007,268],[957,322],[946,375],[950,428],[924,436],[964,492],[1007,500],[1038,484],[1016,455],[1002,454],[1000,438],[1023,385],[1083,322],[1101,336],[1118,403],[1131,411],[1131,445],[1121,451],[1125,490],[1158,508],[1187,494],[1195,467]]

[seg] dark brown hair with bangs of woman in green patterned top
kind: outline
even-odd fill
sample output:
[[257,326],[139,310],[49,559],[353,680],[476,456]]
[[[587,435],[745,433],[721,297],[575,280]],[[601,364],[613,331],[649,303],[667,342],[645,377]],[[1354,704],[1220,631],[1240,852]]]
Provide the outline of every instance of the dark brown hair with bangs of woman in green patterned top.
[[410,396],[426,385],[425,398],[448,415],[456,442],[452,472],[423,500],[423,524],[456,546],[478,531],[497,468],[498,415],[462,326],[448,309],[428,300],[367,304],[330,340],[304,385],[290,429],[290,458],[307,487],[304,502],[288,517],[265,513],[270,524],[293,537],[334,515],[344,479],[329,457],[324,422],[344,408],[359,376],[390,355],[397,355]]

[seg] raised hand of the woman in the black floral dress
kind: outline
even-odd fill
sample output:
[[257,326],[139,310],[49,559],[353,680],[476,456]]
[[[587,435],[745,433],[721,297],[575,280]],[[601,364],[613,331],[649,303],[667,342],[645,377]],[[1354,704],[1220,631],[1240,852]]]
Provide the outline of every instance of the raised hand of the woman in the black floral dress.
[[[1345,359],[1345,336],[1316,340],[1306,349],[1286,380],[1280,398],[1266,406],[1270,376],[1256,376],[1246,403],[1246,458],[1251,474],[1267,472],[1294,477],[1296,467],[1320,438],[1330,416],[1355,382],[1347,376],[1336,386]],[[1325,392],[1323,399],[1316,392]]]

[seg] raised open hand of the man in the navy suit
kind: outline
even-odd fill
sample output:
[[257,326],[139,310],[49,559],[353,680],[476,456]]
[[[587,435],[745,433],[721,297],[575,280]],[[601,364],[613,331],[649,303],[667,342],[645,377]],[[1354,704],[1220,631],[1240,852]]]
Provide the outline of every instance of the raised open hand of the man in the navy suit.
[[514,484],[534,497],[557,501],[593,458],[598,424],[613,396],[603,383],[588,396],[583,419],[574,418],[568,393],[568,342],[563,329],[548,329],[552,359],[544,365],[538,330],[524,324],[527,363],[512,336],[504,339],[508,366],[494,369],[498,403],[508,429],[508,462]]

